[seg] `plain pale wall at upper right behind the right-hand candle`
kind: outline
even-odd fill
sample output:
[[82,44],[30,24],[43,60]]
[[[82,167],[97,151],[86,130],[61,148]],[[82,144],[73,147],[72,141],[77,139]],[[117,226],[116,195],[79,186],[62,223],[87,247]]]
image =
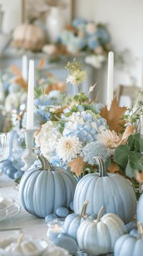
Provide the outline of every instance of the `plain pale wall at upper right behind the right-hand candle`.
[[[115,89],[119,84],[141,86],[143,53],[143,1],[142,0],[75,0],[74,16],[107,24],[111,42],[116,51],[125,54],[126,64],[115,66]],[[100,90],[99,100],[105,102],[107,64],[96,71]],[[142,84],[143,87],[143,84]]]

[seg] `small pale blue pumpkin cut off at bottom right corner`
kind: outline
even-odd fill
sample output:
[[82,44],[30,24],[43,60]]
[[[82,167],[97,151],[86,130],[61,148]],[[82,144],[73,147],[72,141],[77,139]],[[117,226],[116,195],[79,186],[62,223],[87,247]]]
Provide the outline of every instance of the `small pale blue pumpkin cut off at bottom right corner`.
[[138,222],[138,237],[123,235],[115,244],[115,256],[142,256],[143,255],[143,227]]

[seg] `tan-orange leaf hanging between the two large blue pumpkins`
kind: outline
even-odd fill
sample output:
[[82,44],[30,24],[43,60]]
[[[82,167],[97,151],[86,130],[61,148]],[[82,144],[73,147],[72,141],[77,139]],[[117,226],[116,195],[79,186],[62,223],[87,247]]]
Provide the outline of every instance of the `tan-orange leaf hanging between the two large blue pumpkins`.
[[76,173],[76,175],[79,177],[81,173],[84,170],[86,162],[84,162],[83,157],[79,156],[76,159],[73,159],[71,162],[68,162],[68,166],[71,167],[71,171],[73,173]]

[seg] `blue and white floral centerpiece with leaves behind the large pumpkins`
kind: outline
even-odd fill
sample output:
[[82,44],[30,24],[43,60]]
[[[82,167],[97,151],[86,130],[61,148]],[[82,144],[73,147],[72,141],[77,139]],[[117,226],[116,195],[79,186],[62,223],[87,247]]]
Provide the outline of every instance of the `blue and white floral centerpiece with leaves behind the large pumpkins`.
[[68,165],[78,177],[97,171],[93,157],[99,156],[108,171],[118,172],[131,181],[136,170],[143,168],[139,131],[133,125],[137,114],[118,106],[116,99],[109,111],[107,106],[91,102],[88,94],[95,86],[90,87],[88,94],[81,92],[86,77],[81,64],[74,60],[67,64],[67,69],[67,82],[78,86],[79,93],[61,101],[62,106],[55,106],[55,113],[60,109],[60,115],[55,114],[54,119],[51,116],[41,126],[35,140],[41,153],[53,164]]

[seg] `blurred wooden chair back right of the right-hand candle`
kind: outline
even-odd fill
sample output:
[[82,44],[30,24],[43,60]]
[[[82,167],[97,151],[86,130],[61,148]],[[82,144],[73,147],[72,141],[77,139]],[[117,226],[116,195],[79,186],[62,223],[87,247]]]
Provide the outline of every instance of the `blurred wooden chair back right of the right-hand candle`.
[[130,100],[133,98],[133,95],[141,88],[137,86],[125,86],[125,85],[119,85],[118,89],[115,91],[115,97],[117,97],[118,103],[120,102],[121,96],[126,96],[130,98]]

